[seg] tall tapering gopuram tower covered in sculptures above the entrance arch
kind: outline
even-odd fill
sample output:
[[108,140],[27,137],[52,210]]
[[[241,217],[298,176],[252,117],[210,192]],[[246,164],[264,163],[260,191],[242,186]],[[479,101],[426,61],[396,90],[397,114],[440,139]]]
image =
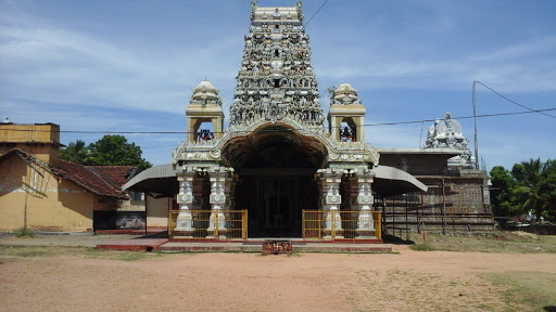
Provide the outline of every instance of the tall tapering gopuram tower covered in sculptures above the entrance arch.
[[311,65],[301,2],[294,8],[258,8],[252,2],[237,76],[230,127],[288,118],[323,126],[323,109]]

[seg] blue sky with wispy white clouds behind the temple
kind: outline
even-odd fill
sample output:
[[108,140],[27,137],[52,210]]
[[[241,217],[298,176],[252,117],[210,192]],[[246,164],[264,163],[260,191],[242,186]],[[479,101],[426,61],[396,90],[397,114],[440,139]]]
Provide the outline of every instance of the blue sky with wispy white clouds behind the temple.
[[[227,118],[250,8],[249,0],[0,0],[0,119],[58,123],[66,145],[106,132],[184,132],[192,88],[204,79],[219,89]],[[481,117],[556,108],[556,1],[306,0],[302,9],[325,114],[326,89],[352,84],[372,146],[419,147],[432,125],[419,121],[450,112],[472,150],[480,81],[480,167],[556,158],[556,110]],[[123,135],[153,165],[170,162],[185,140]]]

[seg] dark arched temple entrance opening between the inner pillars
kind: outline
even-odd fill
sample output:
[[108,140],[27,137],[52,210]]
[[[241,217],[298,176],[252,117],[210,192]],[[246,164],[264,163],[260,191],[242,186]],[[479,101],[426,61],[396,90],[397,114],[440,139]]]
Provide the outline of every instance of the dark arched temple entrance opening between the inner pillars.
[[236,208],[248,210],[249,237],[301,237],[302,210],[319,209],[314,176],[326,165],[324,143],[276,122],[236,135],[222,151],[239,177]]

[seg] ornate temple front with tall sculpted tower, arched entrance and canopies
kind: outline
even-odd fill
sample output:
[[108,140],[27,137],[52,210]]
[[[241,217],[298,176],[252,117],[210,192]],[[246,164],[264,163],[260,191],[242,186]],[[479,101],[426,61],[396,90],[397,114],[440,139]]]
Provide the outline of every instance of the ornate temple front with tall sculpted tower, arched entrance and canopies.
[[[172,164],[141,172],[124,188],[174,198],[174,237],[380,238],[387,198],[429,187],[396,161],[383,164],[365,142],[366,108],[355,88],[331,90],[325,117],[300,2],[253,2],[243,40],[229,127],[218,89],[201,81]],[[467,157],[459,136],[441,146],[430,135],[430,148],[417,150],[442,155],[445,167],[446,155]]]

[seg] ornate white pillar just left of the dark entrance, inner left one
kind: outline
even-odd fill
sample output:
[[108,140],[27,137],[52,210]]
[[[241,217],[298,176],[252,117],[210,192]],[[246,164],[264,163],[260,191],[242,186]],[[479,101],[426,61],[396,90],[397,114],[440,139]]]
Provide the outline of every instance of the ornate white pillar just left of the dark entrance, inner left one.
[[210,238],[226,238],[226,216],[223,210],[226,208],[226,183],[228,172],[223,167],[215,168],[210,172],[211,180],[211,218],[208,220],[208,229],[206,229],[206,237]]

